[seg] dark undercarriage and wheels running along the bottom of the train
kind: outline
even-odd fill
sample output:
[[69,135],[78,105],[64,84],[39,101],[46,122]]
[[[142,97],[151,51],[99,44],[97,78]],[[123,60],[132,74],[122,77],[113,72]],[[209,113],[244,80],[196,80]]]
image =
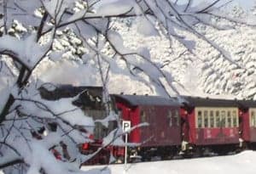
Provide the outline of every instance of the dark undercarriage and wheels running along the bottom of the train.
[[[247,147],[248,149],[249,147]],[[256,149],[256,143],[253,144]],[[219,155],[229,155],[240,153],[243,149],[239,144],[224,144],[211,146],[188,146],[188,149],[181,149],[180,146],[162,146],[162,147],[130,147],[127,151],[127,162],[143,162],[153,160],[173,160],[173,159],[190,159],[200,157],[211,157]],[[107,165],[122,164],[125,161],[125,155],[113,156],[111,149],[103,149],[92,160],[87,161],[84,165]],[[115,160],[111,161],[111,156]]]

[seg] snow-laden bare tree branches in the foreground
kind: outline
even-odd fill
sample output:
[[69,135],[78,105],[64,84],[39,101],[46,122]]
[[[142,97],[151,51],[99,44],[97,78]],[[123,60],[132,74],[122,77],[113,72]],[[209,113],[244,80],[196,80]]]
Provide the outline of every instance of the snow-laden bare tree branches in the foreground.
[[[55,66],[50,74],[53,78],[63,73],[67,82],[76,76],[90,85],[100,81],[106,103],[110,73],[154,84],[160,95],[179,94],[172,85],[172,74],[162,69],[168,62],[154,62],[148,48],[126,48],[121,33],[113,27],[117,19],[137,20],[139,33],[165,36],[170,49],[172,42],[179,42],[184,51],[195,54],[195,41],[181,31],[191,33],[223,59],[247,71],[196,27],[201,24],[226,30],[238,24],[256,25],[255,16],[241,19],[224,13],[221,9],[228,4],[230,1],[221,0],[198,5],[191,0],[0,1],[0,169],[6,174],[89,172],[79,170],[88,156],[80,154],[77,146],[90,141],[95,123],[73,105],[78,96],[56,101],[41,97],[41,87],[54,91],[57,85],[57,81],[47,83],[38,76],[45,65]],[[222,19],[229,25],[218,25]],[[54,129],[50,126],[53,123]],[[63,149],[63,144],[69,155],[62,153],[63,160],[57,160],[51,149]]]

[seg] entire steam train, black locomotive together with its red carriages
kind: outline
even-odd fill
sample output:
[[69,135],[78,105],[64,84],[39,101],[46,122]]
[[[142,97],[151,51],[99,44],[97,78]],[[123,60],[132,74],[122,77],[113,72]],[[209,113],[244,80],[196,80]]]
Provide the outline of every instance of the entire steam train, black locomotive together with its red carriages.
[[[58,86],[54,91],[40,87],[42,98],[57,100],[79,95],[73,104],[90,115],[93,120],[104,120],[107,111],[102,103],[102,87]],[[256,149],[256,102],[253,100],[227,100],[213,98],[161,98],[159,96],[112,94],[112,108],[119,114],[117,121],[108,126],[97,121],[93,134],[87,132],[90,143],[79,144],[82,154],[91,154],[102,149],[102,138],[117,128],[119,121],[131,121],[139,126],[128,136],[128,156],[150,160],[160,156],[168,159],[175,154],[191,157],[212,154],[226,154],[243,149]],[[51,124],[51,123],[49,123]],[[90,127],[91,128],[91,127]],[[39,132],[39,131],[38,131]],[[33,134],[34,132],[32,132]],[[111,154],[117,160],[124,160],[123,146],[108,145],[84,165],[107,164]]]

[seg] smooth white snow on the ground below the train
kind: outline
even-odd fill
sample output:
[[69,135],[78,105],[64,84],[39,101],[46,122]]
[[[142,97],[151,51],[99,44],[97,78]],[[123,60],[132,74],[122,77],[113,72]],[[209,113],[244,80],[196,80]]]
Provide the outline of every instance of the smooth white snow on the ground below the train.
[[[111,166],[98,166],[102,167],[102,173],[111,174],[254,174],[256,171],[255,166],[256,152],[245,151],[241,154],[207,157],[198,159],[186,160],[166,160],[143,162],[124,165],[111,165]],[[83,170],[87,171],[95,166],[84,166]]]

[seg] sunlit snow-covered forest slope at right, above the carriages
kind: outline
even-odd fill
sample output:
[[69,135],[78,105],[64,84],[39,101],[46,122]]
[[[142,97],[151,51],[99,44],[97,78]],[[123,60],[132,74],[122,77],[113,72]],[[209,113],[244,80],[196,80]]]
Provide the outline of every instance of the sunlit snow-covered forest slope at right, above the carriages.
[[[241,8],[234,7],[235,16],[244,14]],[[227,21],[220,21],[221,26]],[[137,21],[123,20],[116,25],[122,31],[125,45],[128,48],[150,48],[155,62],[163,63],[162,70],[172,74],[173,84],[180,93],[186,95],[220,95],[236,96],[236,98],[253,98],[256,94],[256,30],[255,27],[234,25],[233,29],[224,30],[198,25],[212,42],[218,43],[230,54],[231,61],[224,59],[210,45],[183,32],[188,40],[195,41],[193,53],[184,48],[176,40],[170,42],[163,36],[145,37],[137,32]],[[130,27],[127,28],[127,25]],[[117,81],[116,79],[114,81]],[[122,81],[119,78],[119,81]],[[125,90],[125,89],[123,89]],[[127,92],[129,93],[129,92]],[[254,97],[256,98],[256,96]]]

